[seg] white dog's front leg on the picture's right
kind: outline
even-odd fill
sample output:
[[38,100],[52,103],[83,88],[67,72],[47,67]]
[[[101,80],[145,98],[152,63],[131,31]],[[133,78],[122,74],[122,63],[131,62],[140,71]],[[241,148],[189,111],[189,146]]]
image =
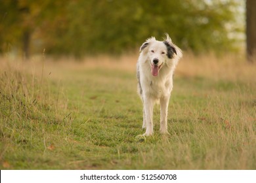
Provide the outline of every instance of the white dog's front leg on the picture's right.
[[161,119],[160,119],[160,133],[169,134],[167,131],[167,113],[169,105],[170,95],[161,97],[160,107],[161,107]]

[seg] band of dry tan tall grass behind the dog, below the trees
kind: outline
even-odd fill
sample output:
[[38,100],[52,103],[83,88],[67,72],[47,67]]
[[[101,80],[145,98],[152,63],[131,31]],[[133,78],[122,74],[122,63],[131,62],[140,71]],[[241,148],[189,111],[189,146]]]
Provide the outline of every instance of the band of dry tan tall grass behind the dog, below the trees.
[[[41,73],[42,67],[53,71],[54,69],[59,71],[61,69],[106,68],[135,73],[138,56],[137,54],[116,57],[103,55],[85,57],[80,60],[75,60],[74,58],[47,58],[45,63],[42,63],[42,56],[34,57],[30,61],[22,61],[22,59],[11,61],[11,59],[0,58],[0,65],[2,68],[9,65],[8,67],[24,69],[35,74]],[[247,63],[245,56],[241,54],[227,54],[226,56],[217,57],[214,54],[195,56],[191,53],[184,53],[177,66],[175,75],[184,78],[202,76],[214,80],[255,82],[255,72],[256,64]]]

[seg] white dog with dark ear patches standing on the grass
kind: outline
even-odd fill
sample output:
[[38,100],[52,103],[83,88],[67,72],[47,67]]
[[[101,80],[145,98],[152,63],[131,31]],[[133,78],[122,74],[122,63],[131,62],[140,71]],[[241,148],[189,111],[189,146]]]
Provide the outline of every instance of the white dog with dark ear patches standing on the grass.
[[160,102],[160,133],[168,134],[167,109],[171,90],[173,90],[173,72],[182,57],[178,48],[166,34],[164,41],[156,41],[154,37],[140,46],[137,62],[138,92],[143,103],[143,125],[149,136],[153,134],[153,108]]

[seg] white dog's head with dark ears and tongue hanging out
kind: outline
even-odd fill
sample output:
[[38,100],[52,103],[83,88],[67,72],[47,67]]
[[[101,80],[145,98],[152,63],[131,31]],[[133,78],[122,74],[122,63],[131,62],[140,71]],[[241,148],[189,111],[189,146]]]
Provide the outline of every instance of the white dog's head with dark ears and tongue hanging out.
[[176,65],[182,57],[181,49],[178,48],[169,35],[166,34],[164,41],[157,41],[151,37],[140,46],[140,52],[148,56],[147,61],[151,65],[151,73],[153,76],[158,76],[160,69],[164,66]]

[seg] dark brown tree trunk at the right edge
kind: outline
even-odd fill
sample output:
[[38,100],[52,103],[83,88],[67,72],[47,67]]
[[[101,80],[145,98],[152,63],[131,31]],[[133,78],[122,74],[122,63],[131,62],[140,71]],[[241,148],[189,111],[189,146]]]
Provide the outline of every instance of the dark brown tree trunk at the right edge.
[[246,1],[246,51],[247,60],[253,62],[256,57],[256,1]]

